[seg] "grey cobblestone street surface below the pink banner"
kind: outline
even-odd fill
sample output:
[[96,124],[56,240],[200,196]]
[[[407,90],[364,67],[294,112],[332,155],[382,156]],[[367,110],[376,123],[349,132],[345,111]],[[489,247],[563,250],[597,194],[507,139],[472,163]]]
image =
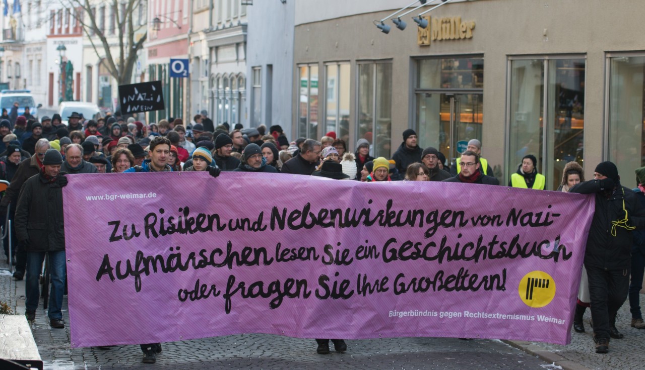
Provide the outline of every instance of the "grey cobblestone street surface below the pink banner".
[[[0,268],[6,267],[4,258]],[[0,273],[0,301],[25,312],[25,282]],[[63,313],[68,323],[67,300]],[[585,324],[588,329],[590,312]],[[42,306],[32,332],[46,369],[641,369],[645,330],[630,328],[628,304],[620,310],[622,340],[611,340],[610,353],[593,349],[591,333],[572,333],[568,346],[456,338],[348,340],[344,354],[317,355],[313,340],[244,334],[164,343],[157,364],[141,363],[139,346],[108,349],[69,346],[69,329],[51,329]],[[513,348],[517,347],[522,349]],[[537,357],[539,356],[539,358]],[[554,364],[555,362],[555,364]]]

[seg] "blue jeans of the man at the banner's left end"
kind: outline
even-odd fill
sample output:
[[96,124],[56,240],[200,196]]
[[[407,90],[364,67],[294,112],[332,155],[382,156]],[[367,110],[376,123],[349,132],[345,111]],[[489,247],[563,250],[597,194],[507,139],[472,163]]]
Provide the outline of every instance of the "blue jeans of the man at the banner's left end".
[[25,306],[27,311],[34,312],[40,299],[40,284],[38,277],[41,273],[45,254],[49,254],[49,271],[52,288],[49,293],[50,319],[63,319],[63,290],[65,288],[65,251],[27,252],[27,278],[25,281]]

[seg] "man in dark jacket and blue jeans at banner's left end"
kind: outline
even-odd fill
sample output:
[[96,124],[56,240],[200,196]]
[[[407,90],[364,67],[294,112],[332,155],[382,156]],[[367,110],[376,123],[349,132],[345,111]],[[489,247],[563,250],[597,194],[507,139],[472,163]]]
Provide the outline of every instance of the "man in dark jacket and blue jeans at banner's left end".
[[25,306],[27,320],[35,319],[40,297],[38,277],[45,254],[49,255],[52,290],[48,317],[52,328],[64,328],[63,291],[65,288],[65,233],[63,225],[63,190],[67,179],[61,171],[63,157],[48,149],[43,169],[30,177],[18,199],[15,234],[27,252]]

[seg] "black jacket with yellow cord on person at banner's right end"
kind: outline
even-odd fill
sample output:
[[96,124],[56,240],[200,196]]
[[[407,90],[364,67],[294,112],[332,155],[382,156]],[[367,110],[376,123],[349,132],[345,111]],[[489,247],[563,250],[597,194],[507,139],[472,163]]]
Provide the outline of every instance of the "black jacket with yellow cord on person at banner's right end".
[[605,270],[631,268],[633,233],[623,227],[612,227],[611,222],[627,217],[628,225],[645,228],[645,208],[639,205],[635,192],[621,186],[619,182],[610,196],[606,196],[607,193],[600,188],[600,180],[579,183],[569,192],[595,194],[596,198],[595,213],[584,252],[584,264]]

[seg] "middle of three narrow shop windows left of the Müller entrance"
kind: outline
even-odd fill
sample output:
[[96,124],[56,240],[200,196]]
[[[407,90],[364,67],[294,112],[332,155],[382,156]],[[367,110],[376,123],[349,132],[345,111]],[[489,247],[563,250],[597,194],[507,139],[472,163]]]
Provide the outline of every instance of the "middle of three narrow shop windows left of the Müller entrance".
[[333,63],[325,66],[324,132],[334,131],[337,138],[348,143],[350,138],[350,65]]

